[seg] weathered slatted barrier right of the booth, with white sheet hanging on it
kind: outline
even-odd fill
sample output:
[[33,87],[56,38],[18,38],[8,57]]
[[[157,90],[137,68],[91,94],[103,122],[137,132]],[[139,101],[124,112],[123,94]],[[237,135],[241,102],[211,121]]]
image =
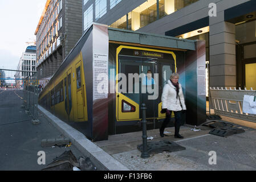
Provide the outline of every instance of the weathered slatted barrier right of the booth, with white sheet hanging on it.
[[214,109],[215,114],[225,115],[250,122],[256,122],[256,114],[243,113],[243,96],[254,96],[256,90],[227,89],[210,87],[209,109]]

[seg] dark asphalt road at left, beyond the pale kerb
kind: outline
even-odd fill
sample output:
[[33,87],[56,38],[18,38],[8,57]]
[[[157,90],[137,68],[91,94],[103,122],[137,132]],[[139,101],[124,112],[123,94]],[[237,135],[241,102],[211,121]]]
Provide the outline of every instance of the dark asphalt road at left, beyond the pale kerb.
[[[73,145],[41,147],[42,139],[56,138],[61,133],[42,116],[40,124],[33,125],[19,96],[23,97],[22,90],[0,90],[0,171],[38,171],[67,150],[77,159],[83,156]],[[39,151],[45,152],[46,164],[38,164]]]

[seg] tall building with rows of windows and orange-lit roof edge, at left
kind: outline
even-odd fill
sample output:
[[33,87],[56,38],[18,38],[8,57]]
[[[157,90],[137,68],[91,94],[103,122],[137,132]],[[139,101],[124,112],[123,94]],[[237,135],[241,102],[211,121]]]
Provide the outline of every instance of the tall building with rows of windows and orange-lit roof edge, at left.
[[82,0],[47,0],[35,35],[36,71],[47,80],[82,36]]

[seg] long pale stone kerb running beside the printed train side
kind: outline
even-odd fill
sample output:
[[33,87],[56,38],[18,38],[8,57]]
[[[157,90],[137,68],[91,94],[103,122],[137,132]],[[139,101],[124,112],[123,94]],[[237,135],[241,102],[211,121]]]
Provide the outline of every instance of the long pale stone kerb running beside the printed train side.
[[130,171],[130,169],[114,159],[111,155],[107,154],[107,152],[96,146],[91,140],[88,140],[86,136],[78,130],[67,125],[67,123],[51,114],[42,106],[38,105],[38,109],[40,113],[42,113],[43,116],[60,131],[60,133],[71,140],[72,144],[74,144],[84,156],[91,159],[97,169],[100,171]]

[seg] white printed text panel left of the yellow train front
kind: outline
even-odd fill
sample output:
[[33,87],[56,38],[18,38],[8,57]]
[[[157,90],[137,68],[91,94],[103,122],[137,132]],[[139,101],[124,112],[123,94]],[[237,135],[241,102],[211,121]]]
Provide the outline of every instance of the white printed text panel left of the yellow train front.
[[94,53],[94,100],[108,98],[108,55]]

